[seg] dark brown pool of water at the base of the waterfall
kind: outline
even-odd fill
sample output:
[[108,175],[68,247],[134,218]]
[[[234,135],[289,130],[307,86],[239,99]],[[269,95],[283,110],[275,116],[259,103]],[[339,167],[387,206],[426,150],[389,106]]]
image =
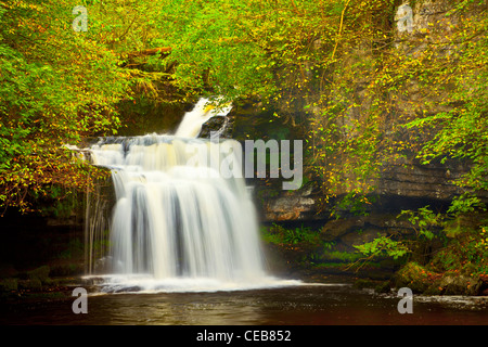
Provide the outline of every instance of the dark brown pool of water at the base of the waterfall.
[[488,325],[487,297],[413,297],[413,313],[399,313],[396,294],[349,285],[301,285],[215,293],[102,294],[88,296],[88,313],[73,300],[2,309],[0,323],[28,325]]

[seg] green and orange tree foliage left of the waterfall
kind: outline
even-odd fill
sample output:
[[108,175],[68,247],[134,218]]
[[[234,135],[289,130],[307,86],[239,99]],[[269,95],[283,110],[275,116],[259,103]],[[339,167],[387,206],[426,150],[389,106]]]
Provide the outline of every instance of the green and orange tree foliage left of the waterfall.
[[103,176],[65,144],[115,133],[115,104],[129,81],[116,54],[95,40],[93,23],[88,33],[70,28],[76,4],[22,0],[0,8],[0,207],[35,210],[37,198],[85,190]]

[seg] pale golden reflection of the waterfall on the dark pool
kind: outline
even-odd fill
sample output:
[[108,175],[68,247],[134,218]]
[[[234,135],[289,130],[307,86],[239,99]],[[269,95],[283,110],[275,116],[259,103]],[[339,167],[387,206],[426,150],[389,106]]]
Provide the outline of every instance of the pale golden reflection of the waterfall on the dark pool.
[[266,303],[246,293],[118,294],[92,297],[106,324],[236,325],[265,321]]

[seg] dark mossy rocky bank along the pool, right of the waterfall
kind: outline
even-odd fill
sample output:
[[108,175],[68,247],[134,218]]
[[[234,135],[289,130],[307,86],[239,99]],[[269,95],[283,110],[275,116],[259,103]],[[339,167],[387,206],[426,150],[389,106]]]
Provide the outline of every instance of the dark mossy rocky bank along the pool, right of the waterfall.
[[380,258],[363,261],[358,253],[324,249],[317,242],[318,235],[310,236],[313,232],[306,235],[304,228],[301,230],[300,239],[290,239],[286,242],[277,235],[270,236],[265,231],[268,267],[278,275],[299,278],[311,283],[341,279],[357,288],[376,293],[409,287],[414,294],[428,296],[488,296],[488,275],[477,271],[473,265],[464,264],[460,269],[434,271],[434,261],[426,266],[404,259]]

